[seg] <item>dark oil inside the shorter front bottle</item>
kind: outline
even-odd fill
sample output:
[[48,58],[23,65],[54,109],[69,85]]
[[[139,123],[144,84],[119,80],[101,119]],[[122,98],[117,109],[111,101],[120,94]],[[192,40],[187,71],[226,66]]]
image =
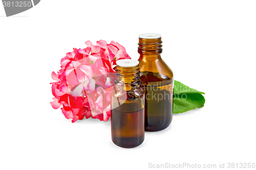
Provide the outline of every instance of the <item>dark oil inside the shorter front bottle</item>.
[[119,147],[134,148],[144,141],[144,108],[136,112],[113,109],[111,124],[112,141]]

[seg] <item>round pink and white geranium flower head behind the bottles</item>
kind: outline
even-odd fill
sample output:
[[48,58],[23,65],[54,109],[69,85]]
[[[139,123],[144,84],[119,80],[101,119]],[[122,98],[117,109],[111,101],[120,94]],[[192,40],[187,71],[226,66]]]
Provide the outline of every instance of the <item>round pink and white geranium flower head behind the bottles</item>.
[[72,123],[84,117],[108,121],[110,90],[114,85],[116,60],[131,59],[125,48],[117,42],[104,40],[86,48],[74,48],[60,60],[60,69],[52,72],[54,109],[61,111]]

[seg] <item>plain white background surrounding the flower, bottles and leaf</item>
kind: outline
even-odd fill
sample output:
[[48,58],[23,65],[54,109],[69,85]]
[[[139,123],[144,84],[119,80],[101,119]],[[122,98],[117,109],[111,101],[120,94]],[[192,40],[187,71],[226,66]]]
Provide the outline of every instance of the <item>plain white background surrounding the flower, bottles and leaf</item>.
[[[256,1],[43,0],[7,18],[0,4],[0,169],[256,163],[255,9]],[[110,121],[72,124],[51,107],[51,72],[87,40],[117,41],[138,59],[141,33],[162,34],[175,79],[205,92],[206,103],[123,149]]]

